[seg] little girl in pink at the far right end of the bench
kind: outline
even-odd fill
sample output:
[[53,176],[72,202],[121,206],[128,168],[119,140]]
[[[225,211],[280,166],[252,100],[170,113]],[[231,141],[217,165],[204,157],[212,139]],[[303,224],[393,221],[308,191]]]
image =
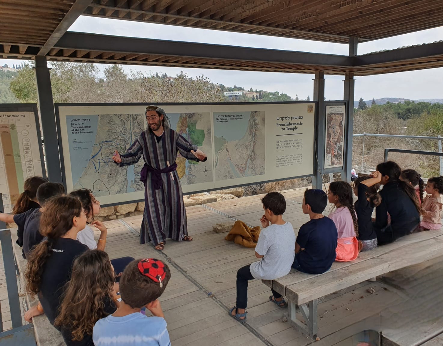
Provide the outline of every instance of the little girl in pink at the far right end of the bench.
[[442,226],[442,201],[443,178],[435,177],[427,181],[426,192],[428,195],[423,201],[423,220],[420,228],[423,230],[440,229]]

